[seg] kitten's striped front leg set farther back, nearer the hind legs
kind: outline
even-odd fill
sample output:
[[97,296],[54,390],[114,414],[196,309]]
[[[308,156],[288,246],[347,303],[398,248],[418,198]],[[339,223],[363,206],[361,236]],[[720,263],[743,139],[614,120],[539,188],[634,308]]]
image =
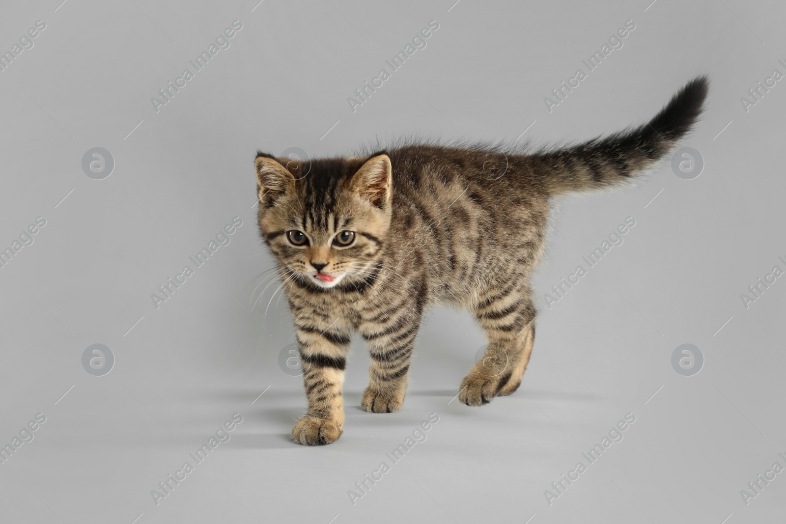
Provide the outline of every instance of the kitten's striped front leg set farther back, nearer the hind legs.
[[401,409],[421,317],[416,304],[402,302],[387,307],[358,329],[371,357],[369,387],[361,401],[365,411],[390,413]]

